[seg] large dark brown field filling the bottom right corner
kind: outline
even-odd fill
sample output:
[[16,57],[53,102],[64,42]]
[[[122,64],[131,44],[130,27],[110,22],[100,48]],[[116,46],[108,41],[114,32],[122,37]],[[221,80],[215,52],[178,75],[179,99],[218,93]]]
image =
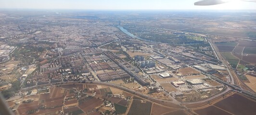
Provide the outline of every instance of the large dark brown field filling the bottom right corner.
[[255,115],[256,102],[237,93],[214,105],[234,115]]

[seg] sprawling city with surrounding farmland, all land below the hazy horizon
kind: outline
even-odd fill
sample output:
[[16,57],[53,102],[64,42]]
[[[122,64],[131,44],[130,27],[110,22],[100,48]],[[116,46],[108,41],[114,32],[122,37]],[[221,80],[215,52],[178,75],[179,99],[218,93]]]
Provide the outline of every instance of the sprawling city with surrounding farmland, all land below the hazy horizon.
[[255,18],[2,10],[0,91],[15,115],[254,115]]

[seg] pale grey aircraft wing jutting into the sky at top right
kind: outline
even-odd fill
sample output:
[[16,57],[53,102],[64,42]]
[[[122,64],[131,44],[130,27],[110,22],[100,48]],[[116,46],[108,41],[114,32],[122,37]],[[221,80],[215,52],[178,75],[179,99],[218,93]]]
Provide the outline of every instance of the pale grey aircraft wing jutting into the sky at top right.
[[[195,2],[194,5],[208,6],[208,5],[222,4],[230,1],[233,1],[233,0],[201,0],[201,1]],[[241,0],[241,1],[256,2],[256,0]]]

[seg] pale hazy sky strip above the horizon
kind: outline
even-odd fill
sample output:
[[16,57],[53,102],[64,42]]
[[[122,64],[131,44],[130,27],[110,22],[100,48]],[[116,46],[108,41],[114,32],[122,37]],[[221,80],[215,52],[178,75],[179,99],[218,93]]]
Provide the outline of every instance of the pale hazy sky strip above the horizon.
[[234,0],[194,6],[199,0],[0,0],[0,8],[86,10],[256,10],[256,2]]

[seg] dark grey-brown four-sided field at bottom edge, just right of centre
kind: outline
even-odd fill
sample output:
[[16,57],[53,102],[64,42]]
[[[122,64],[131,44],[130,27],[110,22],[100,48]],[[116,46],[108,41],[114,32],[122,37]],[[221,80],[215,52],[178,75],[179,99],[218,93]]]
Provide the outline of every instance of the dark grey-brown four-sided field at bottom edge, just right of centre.
[[151,102],[133,99],[127,115],[150,115],[151,107]]

